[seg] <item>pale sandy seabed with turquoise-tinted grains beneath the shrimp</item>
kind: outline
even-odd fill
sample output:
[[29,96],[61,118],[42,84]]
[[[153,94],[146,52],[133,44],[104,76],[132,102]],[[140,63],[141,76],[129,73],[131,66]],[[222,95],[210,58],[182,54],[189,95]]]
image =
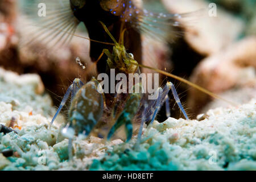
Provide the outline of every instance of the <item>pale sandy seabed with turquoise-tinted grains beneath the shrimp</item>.
[[49,128],[55,108],[40,77],[0,69],[0,91],[0,123],[18,131],[0,133],[0,151],[14,151],[0,154],[1,170],[256,170],[255,99],[209,110],[199,121],[154,121],[138,147],[136,135],[129,143],[76,137],[67,160],[64,118]]

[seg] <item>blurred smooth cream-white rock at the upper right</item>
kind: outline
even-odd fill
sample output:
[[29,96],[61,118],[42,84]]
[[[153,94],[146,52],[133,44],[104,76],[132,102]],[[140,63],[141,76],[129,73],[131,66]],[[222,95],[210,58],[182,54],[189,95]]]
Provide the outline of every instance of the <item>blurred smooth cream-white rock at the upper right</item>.
[[[162,0],[170,13],[189,13],[181,21],[185,40],[201,55],[211,55],[229,46],[243,31],[242,19],[217,6],[217,16],[209,16],[209,3],[202,0]],[[227,28],[228,27],[228,28]]]

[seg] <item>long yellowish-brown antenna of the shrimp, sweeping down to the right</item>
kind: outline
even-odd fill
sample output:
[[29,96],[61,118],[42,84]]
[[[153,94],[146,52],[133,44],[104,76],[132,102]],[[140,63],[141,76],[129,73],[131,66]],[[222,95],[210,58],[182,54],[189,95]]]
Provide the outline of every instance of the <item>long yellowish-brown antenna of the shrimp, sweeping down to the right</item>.
[[220,96],[218,96],[217,94],[213,93],[213,92],[210,92],[209,90],[207,89],[204,89],[203,87],[197,85],[197,84],[194,84],[192,83],[191,81],[188,81],[184,78],[181,78],[179,76],[176,76],[176,75],[173,75],[172,73],[168,73],[166,71],[163,71],[161,69],[158,69],[158,68],[152,68],[152,67],[148,67],[146,65],[143,65],[143,64],[137,64],[137,63],[131,63],[131,64],[135,64],[135,65],[138,65],[139,67],[142,67],[142,68],[147,68],[147,69],[152,69],[158,73],[161,73],[163,75],[166,75],[168,77],[171,77],[171,78],[175,78],[176,80],[179,80],[181,82],[184,82],[185,84],[188,84],[189,86],[192,86],[193,88],[197,89],[197,90],[200,90],[201,92],[203,93],[206,93],[208,94],[209,96],[212,96],[213,98],[217,98],[218,100],[222,100],[222,101],[225,101],[225,102],[228,102],[229,104],[233,105],[233,106],[237,106],[236,103],[232,102],[232,101],[228,101],[226,100],[225,98],[222,98]]

